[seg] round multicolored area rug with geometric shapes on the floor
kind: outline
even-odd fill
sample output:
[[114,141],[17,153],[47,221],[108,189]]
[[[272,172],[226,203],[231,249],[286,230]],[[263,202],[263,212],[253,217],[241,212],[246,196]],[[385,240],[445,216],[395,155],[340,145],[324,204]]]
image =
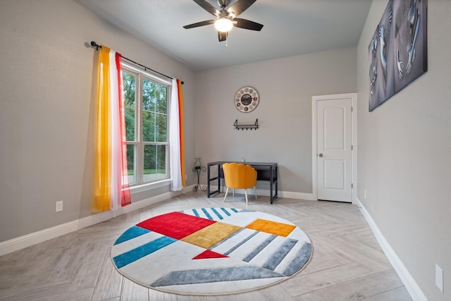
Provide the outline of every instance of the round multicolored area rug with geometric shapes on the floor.
[[125,231],[111,258],[126,278],[180,295],[244,293],[284,281],[310,260],[293,223],[259,211],[201,208],[152,217]]

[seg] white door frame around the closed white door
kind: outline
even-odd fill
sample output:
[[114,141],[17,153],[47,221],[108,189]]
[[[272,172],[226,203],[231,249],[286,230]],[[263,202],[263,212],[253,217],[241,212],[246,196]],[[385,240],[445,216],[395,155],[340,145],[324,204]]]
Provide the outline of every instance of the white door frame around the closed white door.
[[318,102],[333,99],[351,99],[352,131],[352,204],[357,198],[357,93],[316,95],[311,97],[311,184],[314,200],[318,200]]

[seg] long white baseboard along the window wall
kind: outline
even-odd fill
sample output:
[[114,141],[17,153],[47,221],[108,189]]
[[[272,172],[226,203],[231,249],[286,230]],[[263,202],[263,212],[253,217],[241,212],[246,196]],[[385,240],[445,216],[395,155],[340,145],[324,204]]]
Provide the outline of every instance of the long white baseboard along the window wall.
[[193,186],[194,185],[184,188],[183,191],[180,192],[171,191],[163,193],[162,195],[157,195],[156,197],[149,197],[148,199],[143,199],[142,201],[132,203],[125,207],[121,207],[120,209],[118,209],[118,211],[104,211],[99,214],[86,216],[82,219],[69,221],[68,223],[62,223],[61,225],[47,228],[42,231],[37,231],[34,233],[20,236],[18,238],[13,238],[11,240],[0,242],[0,256],[23,249],[25,247],[30,247],[30,245],[35,245],[39,242],[44,242],[46,240],[50,240],[52,238],[56,238],[61,235],[65,235],[70,232],[95,225],[96,223],[101,223],[102,221],[107,221],[116,216],[126,214],[128,212],[135,211],[137,209],[141,209],[152,204],[156,204],[165,199],[169,199],[176,195],[188,192],[192,190]]

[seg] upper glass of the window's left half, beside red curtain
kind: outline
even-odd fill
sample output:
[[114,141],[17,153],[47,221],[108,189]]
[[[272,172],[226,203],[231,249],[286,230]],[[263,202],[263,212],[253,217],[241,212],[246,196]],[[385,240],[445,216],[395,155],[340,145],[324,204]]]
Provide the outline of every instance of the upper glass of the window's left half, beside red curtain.
[[125,106],[125,135],[127,141],[135,139],[135,87],[136,77],[134,74],[123,71],[122,73]]

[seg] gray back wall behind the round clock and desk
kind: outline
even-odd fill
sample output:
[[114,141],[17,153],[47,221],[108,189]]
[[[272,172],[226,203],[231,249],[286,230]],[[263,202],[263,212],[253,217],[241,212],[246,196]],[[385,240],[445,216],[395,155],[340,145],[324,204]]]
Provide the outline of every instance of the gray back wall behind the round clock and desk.
[[[279,190],[311,193],[311,97],[356,92],[356,49],[199,71],[196,74],[196,156],[202,161],[277,162]],[[235,109],[235,93],[252,86],[259,106]],[[253,124],[258,130],[240,130]],[[205,177],[204,177],[205,180]],[[261,185],[261,189],[268,189]]]

